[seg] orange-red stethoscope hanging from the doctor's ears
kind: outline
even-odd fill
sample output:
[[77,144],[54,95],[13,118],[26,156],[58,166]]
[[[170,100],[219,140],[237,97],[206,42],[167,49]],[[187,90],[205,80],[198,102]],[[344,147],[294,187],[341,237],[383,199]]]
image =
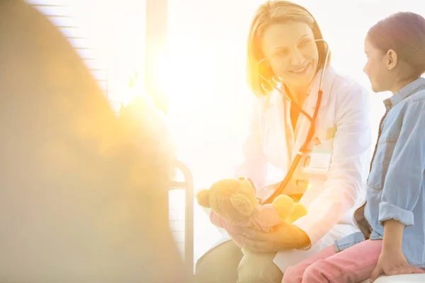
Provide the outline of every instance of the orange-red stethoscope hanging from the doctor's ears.
[[[313,116],[311,117],[307,112],[305,112],[304,110],[302,110],[302,107],[300,105],[298,105],[293,98],[291,98],[287,93],[285,93],[284,91],[282,91],[276,83],[273,83],[272,81],[266,79],[263,75],[259,74],[259,76],[261,77],[261,79],[263,79],[264,81],[266,81],[266,83],[268,83],[270,86],[272,86],[274,89],[276,89],[276,91],[278,91],[280,94],[282,94],[283,97],[285,97],[286,99],[288,99],[290,101],[290,103],[295,106],[295,108],[297,108],[297,110],[300,111],[300,113],[302,113],[302,115],[305,115],[305,117],[307,117],[307,119],[310,121],[310,128],[308,129],[308,133],[307,133],[307,137],[304,141],[304,144],[302,144],[302,146],[300,147],[300,150],[298,151],[297,155],[295,156],[289,170],[288,173],[286,173],[285,178],[283,178],[283,180],[279,183],[278,188],[273,192],[273,194],[268,197],[266,200],[263,200],[261,202],[261,204],[269,204],[271,202],[273,202],[273,200],[278,197],[278,195],[280,195],[283,190],[285,189],[286,185],[288,185],[290,179],[293,177],[293,174],[298,166],[298,164],[301,161],[301,158],[304,154],[307,153],[306,149],[308,144],[310,143],[310,141],[312,140],[312,137],[314,135],[314,125],[316,123],[316,119],[317,119],[317,112],[319,112],[319,108],[320,108],[320,103],[322,103],[322,95],[323,95],[323,91],[322,91],[322,81],[323,81],[323,77],[324,77],[324,73],[325,73],[325,69],[327,67],[327,62],[328,62],[328,58],[329,58],[329,45],[327,44],[327,42],[323,39],[319,39],[319,40],[314,40],[316,42],[320,41],[320,42],[324,42],[324,44],[327,45],[327,52],[326,52],[326,58],[324,59],[324,66],[322,68],[322,74],[320,76],[320,81],[319,81],[319,91],[317,91],[317,103],[316,103],[316,108],[314,109],[314,113]],[[259,64],[261,64],[264,61],[264,59],[262,59]]]

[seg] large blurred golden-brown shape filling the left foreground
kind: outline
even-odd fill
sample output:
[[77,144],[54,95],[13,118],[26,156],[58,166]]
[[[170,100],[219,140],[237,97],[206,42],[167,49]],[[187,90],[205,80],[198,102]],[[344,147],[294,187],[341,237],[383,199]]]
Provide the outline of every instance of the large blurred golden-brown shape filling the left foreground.
[[152,111],[115,117],[23,1],[0,0],[0,38],[0,282],[187,282],[169,231],[165,127],[148,127]]

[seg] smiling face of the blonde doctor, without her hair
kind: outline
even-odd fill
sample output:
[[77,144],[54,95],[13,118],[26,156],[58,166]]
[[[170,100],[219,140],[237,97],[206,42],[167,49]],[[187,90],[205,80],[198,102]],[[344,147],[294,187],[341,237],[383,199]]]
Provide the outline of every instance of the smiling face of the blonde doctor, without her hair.
[[264,59],[273,73],[290,88],[309,86],[319,61],[312,29],[307,23],[275,23],[264,30]]

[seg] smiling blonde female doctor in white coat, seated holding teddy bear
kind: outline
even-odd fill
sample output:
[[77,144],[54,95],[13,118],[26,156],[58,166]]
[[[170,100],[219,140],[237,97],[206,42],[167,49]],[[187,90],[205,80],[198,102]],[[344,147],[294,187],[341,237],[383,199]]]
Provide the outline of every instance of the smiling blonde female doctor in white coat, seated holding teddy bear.
[[[263,202],[283,188],[278,193],[308,213],[271,233],[246,229],[252,253],[233,241],[216,246],[198,260],[196,282],[280,283],[288,266],[357,230],[352,215],[370,158],[368,93],[336,73],[329,53],[304,7],[269,1],[256,11],[247,68],[258,99],[237,176],[249,178]],[[290,171],[283,186],[265,187],[267,163]]]

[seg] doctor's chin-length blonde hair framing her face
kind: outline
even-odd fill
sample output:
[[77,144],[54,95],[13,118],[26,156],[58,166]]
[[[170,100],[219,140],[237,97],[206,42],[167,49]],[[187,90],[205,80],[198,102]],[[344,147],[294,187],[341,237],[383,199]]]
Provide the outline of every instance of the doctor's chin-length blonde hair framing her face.
[[[246,75],[248,84],[256,96],[267,96],[273,87],[264,81],[261,74],[269,81],[278,81],[271,67],[267,64],[259,64],[263,59],[261,52],[261,38],[264,31],[274,23],[286,23],[290,21],[307,23],[312,29],[314,39],[322,39],[322,31],[312,14],[303,6],[290,1],[267,1],[259,6],[251,23],[248,38],[248,50],[246,60]],[[317,42],[319,52],[319,68],[323,66],[326,59],[327,46],[324,42]],[[328,64],[330,62],[330,52]]]

